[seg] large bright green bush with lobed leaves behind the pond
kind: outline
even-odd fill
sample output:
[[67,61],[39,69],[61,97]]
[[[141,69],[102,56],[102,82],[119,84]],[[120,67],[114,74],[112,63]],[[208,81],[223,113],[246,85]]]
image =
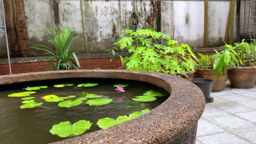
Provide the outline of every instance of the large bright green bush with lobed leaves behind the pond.
[[[120,56],[122,65],[128,70],[156,71],[173,75],[176,75],[176,72],[195,70],[197,58],[189,45],[179,45],[167,34],[151,29],[124,30],[123,33],[128,36],[121,38],[114,45],[132,53],[130,57]],[[115,52],[113,54],[115,55]]]

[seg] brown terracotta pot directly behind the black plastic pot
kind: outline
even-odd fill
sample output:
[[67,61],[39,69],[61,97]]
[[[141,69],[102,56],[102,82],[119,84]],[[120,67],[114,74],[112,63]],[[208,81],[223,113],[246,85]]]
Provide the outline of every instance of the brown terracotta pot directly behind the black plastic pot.
[[[210,75],[209,75],[210,73]],[[213,85],[211,87],[211,92],[220,92],[224,88],[224,84],[227,79],[227,73],[223,76],[223,72],[220,72],[220,77],[217,79],[216,71],[210,71],[210,69],[197,69],[196,70],[197,78],[207,78],[213,80]]]

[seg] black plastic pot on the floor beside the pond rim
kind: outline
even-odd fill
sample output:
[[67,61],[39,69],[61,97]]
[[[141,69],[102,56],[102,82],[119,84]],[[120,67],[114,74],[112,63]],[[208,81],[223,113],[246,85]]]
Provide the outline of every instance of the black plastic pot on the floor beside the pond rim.
[[205,101],[209,102],[213,80],[198,78],[191,79],[190,81],[201,89],[201,91],[204,93]]

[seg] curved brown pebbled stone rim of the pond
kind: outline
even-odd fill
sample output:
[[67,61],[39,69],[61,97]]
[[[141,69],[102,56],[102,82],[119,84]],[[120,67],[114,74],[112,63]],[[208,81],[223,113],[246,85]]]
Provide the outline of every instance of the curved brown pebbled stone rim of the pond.
[[164,88],[171,95],[137,119],[52,144],[195,144],[205,99],[197,86],[180,77],[147,71],[68,70],[0,76],[0,85],[64,78],[138,80]]

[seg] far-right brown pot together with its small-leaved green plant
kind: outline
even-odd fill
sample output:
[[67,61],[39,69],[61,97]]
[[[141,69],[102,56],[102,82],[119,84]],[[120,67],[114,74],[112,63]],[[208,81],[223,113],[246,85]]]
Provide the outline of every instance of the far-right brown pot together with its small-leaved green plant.
[[234,50],[237,52],[237,57],[241,59],[241,65],[228,70],[232,88],[253,88],[256,81],[255,42],[256,40],[252,40],[249,44],[243,39],[242,42],[235,43]]

